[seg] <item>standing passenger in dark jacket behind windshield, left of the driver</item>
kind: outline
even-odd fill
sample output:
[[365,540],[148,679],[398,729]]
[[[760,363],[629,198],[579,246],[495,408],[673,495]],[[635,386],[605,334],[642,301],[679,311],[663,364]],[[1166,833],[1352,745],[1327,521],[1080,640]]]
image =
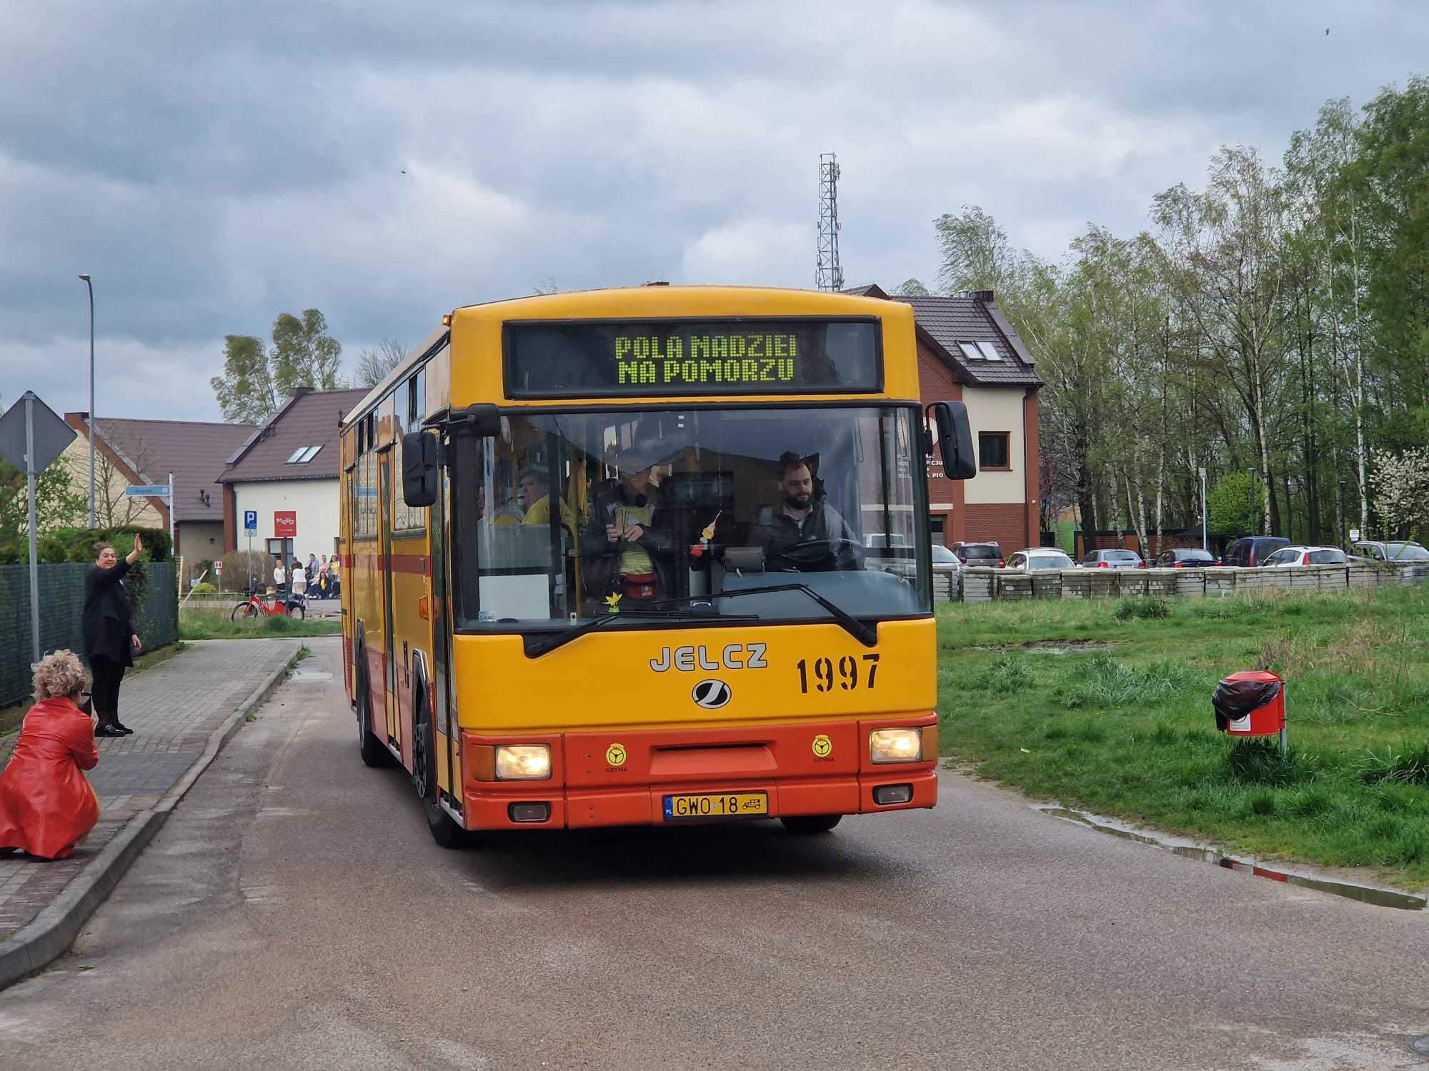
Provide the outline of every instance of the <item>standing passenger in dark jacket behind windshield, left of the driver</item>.
[[592,613],[676,594],[676,540],[656,501],[647,460],[620,458],[620,478],[597,493],[580,537],[586,601]]

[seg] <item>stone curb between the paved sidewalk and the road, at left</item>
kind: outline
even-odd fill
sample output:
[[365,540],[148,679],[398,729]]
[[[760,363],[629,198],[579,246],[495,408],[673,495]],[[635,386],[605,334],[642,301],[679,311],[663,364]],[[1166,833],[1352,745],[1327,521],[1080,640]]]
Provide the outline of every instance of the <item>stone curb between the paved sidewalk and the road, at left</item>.
[[170,813],[173,813],[174,805],[183,800],[184,794],[193,787],[193,783],[217,758],[223,745],[243,727],[249,714],[262,707],[277,691],[277,685],[287,680],[287,674],[297,663],[297,658],[299,655],[294,651],[290,658],[249,693],[249,697],[239,704],[239,708],[219,728],[209,734],[209,743],[204,745],[203,754],[164,793],[164,797],[151,808],[136,814],[100,850],[99,855],[84,865],[79,877],[64,887],[53,904],[0,944],[0,990],[47,967],[74,944],[80,927],[109,898],[114,885],[119,884],[120,878],[129,870],[129,864],[154,838],[154,834],[159,833]]

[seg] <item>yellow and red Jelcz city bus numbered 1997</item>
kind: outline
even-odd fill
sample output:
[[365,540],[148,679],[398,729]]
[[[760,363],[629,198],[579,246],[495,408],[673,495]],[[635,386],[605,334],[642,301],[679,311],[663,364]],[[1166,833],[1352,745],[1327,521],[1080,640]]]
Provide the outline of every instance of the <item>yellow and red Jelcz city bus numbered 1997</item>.
[[343,421],[363,761],[443,845],[932,807],[935,443],[973,474],[899,301],[652,284],[442,317]]

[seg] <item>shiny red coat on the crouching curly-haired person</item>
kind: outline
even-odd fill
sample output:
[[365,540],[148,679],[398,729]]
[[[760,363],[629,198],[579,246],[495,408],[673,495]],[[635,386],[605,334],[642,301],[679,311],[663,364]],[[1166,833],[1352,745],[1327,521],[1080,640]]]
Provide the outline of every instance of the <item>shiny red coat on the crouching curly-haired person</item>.
[[0,774],[0,848],[63,860],[99,821],[99,798],[81,770],[99,763],[94,725],[67,698],[40,700],[24,715]]

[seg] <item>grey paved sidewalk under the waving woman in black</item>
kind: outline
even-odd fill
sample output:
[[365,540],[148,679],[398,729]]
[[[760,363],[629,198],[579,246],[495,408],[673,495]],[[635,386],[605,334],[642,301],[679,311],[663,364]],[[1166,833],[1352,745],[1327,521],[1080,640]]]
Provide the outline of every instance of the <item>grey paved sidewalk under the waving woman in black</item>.
[[[87,777],[99,794],[99,824],[67,860],[0,857],[0,942],[34,921],[86,864],[137,814],[153,808],[200,758],[209,737],[303,640],[203,640],[133,675],[119,693],[119,717],[134,735],[100,738]],[[0,765],[16,735],[0,740]]]

